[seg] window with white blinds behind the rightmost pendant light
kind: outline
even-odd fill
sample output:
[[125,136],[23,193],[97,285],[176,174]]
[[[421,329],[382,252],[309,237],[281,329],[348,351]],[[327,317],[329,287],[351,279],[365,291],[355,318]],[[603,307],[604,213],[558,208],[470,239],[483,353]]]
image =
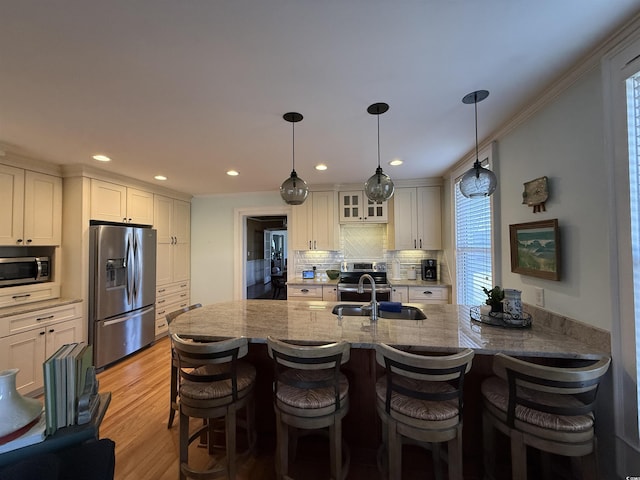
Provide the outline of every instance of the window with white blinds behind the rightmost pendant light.
[[[489,165],[488,155],[480,158],[483,166]],[[462,173],[453,185],[457,303],[480,305],[486,299],[482,288],[493,286],[491,197],[463,196]]]

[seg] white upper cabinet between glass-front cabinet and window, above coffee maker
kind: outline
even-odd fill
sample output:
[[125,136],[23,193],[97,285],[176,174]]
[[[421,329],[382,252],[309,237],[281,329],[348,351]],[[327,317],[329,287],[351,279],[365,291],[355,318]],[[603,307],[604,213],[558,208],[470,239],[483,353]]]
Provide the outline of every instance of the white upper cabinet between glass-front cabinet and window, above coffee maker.
[[396,188],[390,250],[440,250],[440,187]]

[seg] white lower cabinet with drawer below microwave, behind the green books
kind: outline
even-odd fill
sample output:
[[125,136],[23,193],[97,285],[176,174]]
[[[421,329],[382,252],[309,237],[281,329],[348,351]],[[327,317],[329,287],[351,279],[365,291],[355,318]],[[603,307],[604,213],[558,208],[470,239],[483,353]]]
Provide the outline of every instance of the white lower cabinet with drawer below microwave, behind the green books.
[[42,364],[62,345],[84,340],[84,323],[81,303],[0,319],[0,370],[19,369],[18,392],[39,393]]

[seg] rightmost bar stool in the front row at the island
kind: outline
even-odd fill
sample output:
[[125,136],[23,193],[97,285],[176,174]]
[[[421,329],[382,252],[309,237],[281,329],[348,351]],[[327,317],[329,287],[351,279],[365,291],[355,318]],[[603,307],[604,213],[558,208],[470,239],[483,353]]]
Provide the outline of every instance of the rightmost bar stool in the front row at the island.
[[495,465],[494,429],[511,439],[514,480],[527,478],[527,446],[582,457],[583,478],[598,478],[596,394],[611,359],[581,362],[581,366],[550,367],[495,355],[496,376],[482,383],[484,465],[489,478],[494,476],[490,468]]

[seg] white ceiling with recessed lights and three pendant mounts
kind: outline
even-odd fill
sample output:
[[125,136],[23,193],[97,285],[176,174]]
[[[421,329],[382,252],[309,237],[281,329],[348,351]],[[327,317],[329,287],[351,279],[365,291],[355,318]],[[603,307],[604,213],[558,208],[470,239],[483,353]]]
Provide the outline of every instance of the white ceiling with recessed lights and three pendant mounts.
[[[0,143],[194,195],[441,176],[638,0],[0,0]],[[404,165],[387,162],[401,158]],[[314,170],[317,163],[328,170]],[[238,177],[225,175],[228,169]],[[158,182],[159,183],[159,182]]]

